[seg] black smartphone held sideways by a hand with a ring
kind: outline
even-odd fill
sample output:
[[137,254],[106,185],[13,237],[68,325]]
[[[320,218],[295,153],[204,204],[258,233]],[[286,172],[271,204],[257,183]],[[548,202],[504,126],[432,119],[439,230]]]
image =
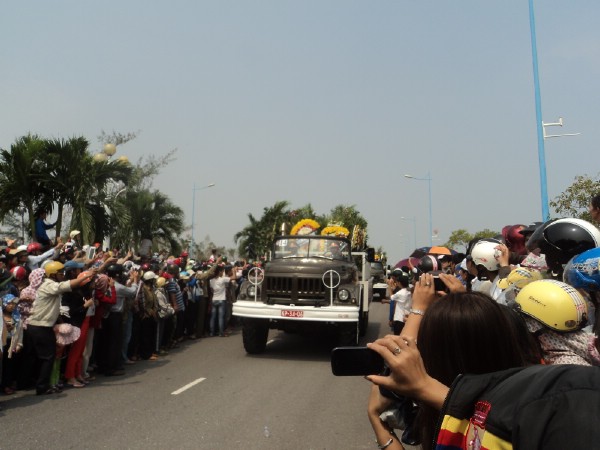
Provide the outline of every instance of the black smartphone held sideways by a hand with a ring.
[[377,375],[383,357],[367,347],[336,347],[331,351],[331,371],[336,376]]

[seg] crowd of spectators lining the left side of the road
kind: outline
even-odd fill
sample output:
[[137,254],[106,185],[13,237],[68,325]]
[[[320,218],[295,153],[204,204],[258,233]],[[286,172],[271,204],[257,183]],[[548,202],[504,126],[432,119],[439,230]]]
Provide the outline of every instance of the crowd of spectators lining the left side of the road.
[[[42,235],[54,225],[41,224]],[[83,388],[184,340],[229,335],[245,261],[227,264],[216,250],[204,262],[185,251],[119,255],[81,245],[80,235],[20,246],[6,239],[0,249],[4,394]]]

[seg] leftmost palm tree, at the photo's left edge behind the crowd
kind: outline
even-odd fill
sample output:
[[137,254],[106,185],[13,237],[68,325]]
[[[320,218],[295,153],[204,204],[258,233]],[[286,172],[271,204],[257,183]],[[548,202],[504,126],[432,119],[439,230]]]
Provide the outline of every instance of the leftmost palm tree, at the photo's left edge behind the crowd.
[[45,144],[37,135],[18,138],[10,150],[0,149],[0,220],[25,208],[31,236],[35,236],[35,212],[52,210]]

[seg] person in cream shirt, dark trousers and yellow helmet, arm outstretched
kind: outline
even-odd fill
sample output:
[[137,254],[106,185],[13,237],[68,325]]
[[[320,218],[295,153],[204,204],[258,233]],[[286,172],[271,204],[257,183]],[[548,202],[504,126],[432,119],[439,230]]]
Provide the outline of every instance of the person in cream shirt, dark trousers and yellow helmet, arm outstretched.
[[50,375],[54,364],[56,337],[54,325],[60,314],[60,302],[62,294],[71,292],[90,281],[95,275],[90,272],[86,277],[66,280],[64,266],[58,261],[46,264],[44,268],[46,278],[37,290],[35,307],[29,317],[27,338],[25,342],[32,343],[32,350],[40,363],[39,375],[36,381],[36,394],[52,394],[59,392],[50,386]]

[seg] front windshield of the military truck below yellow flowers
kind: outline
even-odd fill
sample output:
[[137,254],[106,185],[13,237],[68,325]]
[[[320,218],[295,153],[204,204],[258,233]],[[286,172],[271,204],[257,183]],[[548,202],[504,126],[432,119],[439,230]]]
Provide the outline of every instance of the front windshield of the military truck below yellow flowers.
[[346,241],[324,237],[293,236],[275,241],[273,259],[327,258],[350,261],[350,245]]

